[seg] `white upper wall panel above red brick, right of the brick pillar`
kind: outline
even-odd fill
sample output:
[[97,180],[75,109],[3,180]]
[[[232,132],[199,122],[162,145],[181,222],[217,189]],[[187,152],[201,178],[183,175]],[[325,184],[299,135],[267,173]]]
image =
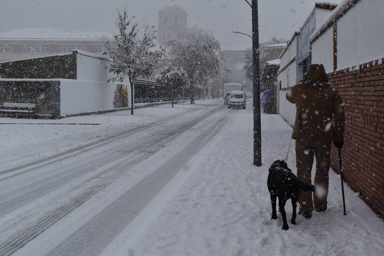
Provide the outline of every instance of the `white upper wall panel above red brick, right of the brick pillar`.
[[383,10],[383,0],[362,0],[338,20],[338,69],[384,54]]

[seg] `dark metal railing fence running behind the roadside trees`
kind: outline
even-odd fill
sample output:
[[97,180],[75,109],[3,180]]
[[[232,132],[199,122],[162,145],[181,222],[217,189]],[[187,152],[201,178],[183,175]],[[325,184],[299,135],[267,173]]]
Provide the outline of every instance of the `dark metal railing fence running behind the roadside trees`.
[[[170,101],[170,90],[167,86],[160,85],[150,80],[135,79],[135,103],[164,102]],[[194,86],[195,98],[202,98],[204,89]],[[190,98],[190,87],[180,87],[175,94],[174,100],[188,100]]]

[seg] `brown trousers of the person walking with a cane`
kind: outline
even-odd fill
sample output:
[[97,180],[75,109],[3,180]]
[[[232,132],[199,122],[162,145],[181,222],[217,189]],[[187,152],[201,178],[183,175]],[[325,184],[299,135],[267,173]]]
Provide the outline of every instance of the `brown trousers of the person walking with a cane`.
[[311,213],[313,206],[321,209],[327,205],[331,142],[330,139],[296,138],[296,168],[299,181],[312,184],[313,156],[316,156],[314,185],[323,187],[321,198],[313,194],[313,203],[312,192],[300,191],[300,212]]

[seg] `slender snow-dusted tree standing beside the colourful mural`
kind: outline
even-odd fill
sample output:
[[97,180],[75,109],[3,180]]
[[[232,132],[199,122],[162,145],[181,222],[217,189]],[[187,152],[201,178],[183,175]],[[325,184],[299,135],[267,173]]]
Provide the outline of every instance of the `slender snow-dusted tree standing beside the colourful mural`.
[[[133,115],[134,79],[154,75],[154,69],[162,52],[150,50],[155,47],[153,40],[156,39],[156,30],[154,26],[149,28],[148,25],[139,27],[138,23],[131,24],[135,17],[128,18],[126,8],[124,8],[124,13],[118,10],[118,15],[116,26],[119,28],[119,34],[114,34],[113,41],[106,36],[103,36],[101,40],[106,48],[104,54],[108,54],[113,59],[109,72],[117,74],[116,77],[108,79],[108,82],[115,82],[126,77],[129,79],[131,114]],[[139,38],[137,34],[141,28],[144,28],[144,34],[142,38]]]

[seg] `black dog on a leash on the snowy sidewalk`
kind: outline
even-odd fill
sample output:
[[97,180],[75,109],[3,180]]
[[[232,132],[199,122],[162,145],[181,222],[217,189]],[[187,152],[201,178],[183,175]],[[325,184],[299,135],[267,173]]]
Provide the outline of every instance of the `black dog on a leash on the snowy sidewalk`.
[[298,201],[300,190],[314,191],[314,186],[301,182],[296,175],[292,173],[283,160],[276,160],[271,164],[268,174],[268,190],[271,193],[272,219],[276,220],[276,197],[279,198],[279,212],[283,217],[283,230],[288,230],[288,223],[285,215],[285,203],[288,199],[292,202],[291,223],[296,225],[296,203]]

